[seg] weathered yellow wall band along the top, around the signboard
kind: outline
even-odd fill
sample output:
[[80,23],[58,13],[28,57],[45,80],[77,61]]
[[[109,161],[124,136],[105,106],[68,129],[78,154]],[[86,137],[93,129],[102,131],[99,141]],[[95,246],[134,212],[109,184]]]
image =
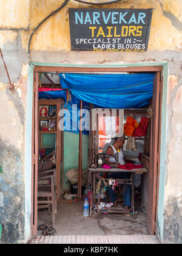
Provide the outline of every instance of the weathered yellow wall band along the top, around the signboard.
[[[58,9],[62,0],[1,0],[0,27],[2,29],[22,29],[22,48],[27,49],[30,31],[35,29],[53,10]],[[116,4],[101,5],[96,8],[154,8],[150,29],[148,51],[170,50],[180,51],[182,9],[180,0],[124,0]],[[32,40],[32,51],[70,51],[69,14],[68,7],[87,8],[88,5],[69,1],[60,12],[47,20],[36,32]],[[172,22],[172,18],[174,21]],[[179,22],[178,22],[179,21]],[[25,31],[24,31],[25,30]],[[15,32],[13,32],[15,34]],[[12,32],[8,39],[13,41]],[[4,31],[0,31],[1,45],[6,43]]]

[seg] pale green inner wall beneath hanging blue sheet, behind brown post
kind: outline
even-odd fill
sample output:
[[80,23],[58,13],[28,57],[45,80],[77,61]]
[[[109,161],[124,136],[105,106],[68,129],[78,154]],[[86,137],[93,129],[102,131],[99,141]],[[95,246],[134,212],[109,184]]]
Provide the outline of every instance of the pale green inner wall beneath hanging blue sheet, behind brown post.
[[[83,158],[82,168],[87,169],[89,135],[83,134]],[[64,190],[70,190],[70,183],[65,174],[73,168],[78,168],[79,134],[64,132]]]

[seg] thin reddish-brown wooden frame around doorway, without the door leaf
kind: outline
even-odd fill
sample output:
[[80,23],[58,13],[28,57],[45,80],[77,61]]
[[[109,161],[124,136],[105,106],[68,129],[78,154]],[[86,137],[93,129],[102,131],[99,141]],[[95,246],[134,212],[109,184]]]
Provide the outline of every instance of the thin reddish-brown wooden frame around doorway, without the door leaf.
[[[35,65],[35,63],[33,63]],[[163,65],[137,65],[137,66],[48,66],[48,65],[36,65],[33,68],[33,109],[32,109],[32,213],[31,213],[31,235],[37,235],[37,221],[38,221],[38,208],[37,208],[37,176],[38,176],[38,73],[39,72],[58,72],[58,73],[66,73],[66,72],[101,72],[101,73],[112,73],[112,72],[158,72],[160,73],[160,114],[159,114],[159,132],[158,132],[158,144],[156,145],[158,149],[160,149],[161,143],[161,106],[162,106],[162,88],[163,84],[161,80],[163,80]],[[156,140],[155,140],[156,141]],[[157,232],[157,210],[158,210],[158,190],[159,190],[159,177],[160,177],[160,150],[157,155],[158,158],[158,172],[157,172],[157,182],[155,184],[155,200],[153,201],[153,223],[152,235]]]

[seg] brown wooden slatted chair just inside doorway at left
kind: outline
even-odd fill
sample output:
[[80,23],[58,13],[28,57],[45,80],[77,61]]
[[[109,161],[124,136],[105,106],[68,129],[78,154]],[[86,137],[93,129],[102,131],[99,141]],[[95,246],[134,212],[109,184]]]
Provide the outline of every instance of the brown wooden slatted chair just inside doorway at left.
[[48,208],[49,213],[52,210],[53,225],[55,224],[57,213],[55,171],[56,169],[50,169],[48,171],[38,173],[38,209]]

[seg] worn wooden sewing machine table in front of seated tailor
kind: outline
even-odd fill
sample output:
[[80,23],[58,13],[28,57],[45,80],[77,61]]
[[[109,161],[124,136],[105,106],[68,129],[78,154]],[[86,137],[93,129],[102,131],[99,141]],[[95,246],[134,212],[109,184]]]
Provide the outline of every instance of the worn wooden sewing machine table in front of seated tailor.
[[120,168],[111,168],[111,169],[104,169],[104,168],[89,168],[89,179],[90,179],[90,187],[91,187],[91,204],[90,204],[90,216],[92,215],[92,207],[93,204],[95,203],[95,177],[96,174],[99,172],[129,172],[130,179],[114,179],[118,184],[123,184],[124,182],[127,182],[127,185],[131,185],[132,187],[132,210],[133,210],[133,215],[135,214],[135,207],[134,207],[134,174],[143,174],[147,173],[148,170],[143,167],[143,168],[137,168],[137,169],[132,169],[132,170],[126,170],[126,169],[120,169]]

